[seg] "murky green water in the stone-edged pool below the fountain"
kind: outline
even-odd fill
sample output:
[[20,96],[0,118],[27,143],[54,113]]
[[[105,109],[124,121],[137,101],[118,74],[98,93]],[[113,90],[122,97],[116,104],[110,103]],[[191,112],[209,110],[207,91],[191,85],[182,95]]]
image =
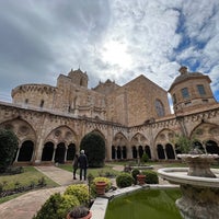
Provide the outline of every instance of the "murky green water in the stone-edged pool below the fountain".
[[175,200],[180,189],[141,189],[110,201],[105,219],[182,219]]

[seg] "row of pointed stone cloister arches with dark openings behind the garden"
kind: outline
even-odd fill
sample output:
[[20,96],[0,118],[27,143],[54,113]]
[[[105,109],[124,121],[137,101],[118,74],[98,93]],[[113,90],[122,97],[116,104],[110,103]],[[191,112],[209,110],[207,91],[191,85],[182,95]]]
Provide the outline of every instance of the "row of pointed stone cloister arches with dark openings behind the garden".
[[[41,143],[33,125],[21,118],[7,120],[0,124],[0,127],[13,129],[19,138],[19,149],[14,157],[16,163],[34,162],[37,154],[41,162],[72,161],[83,138],[83,136],[79,137],[70,127],[61,125],[51,129],[47,135],[41,134]],[[175,160],[177,153],[181,153],[174,143],[176,132],[169,128],[161,129],[153,142],[141,132],[137,132],[128,139],[126,134],[118,131],[111,141],[101,130],[90,131],[99,132],[104,138],[106,151],[111,152],[108,155],[106,154],[106,160],[139,159],[143,152],[152,160]],[[196,146],[206,153],[219,154],[218,136],[219,127],[216,124],[201,123],[191,130],[191,137],[198,139]],[[108,146],[108,142],[112,145]]]

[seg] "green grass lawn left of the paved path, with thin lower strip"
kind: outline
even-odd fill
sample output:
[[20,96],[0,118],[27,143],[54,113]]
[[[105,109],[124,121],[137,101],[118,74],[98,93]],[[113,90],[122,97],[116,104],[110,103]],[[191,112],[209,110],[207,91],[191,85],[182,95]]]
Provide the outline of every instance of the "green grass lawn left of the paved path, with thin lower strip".
[[[38,172],[34,166],[24,166],[24,172],[21,174],[15,175],[0,175],[0,185],[3,185],[3,189],[11,189],[14,188],[15,185],[19,186],[27,186],[31,183],[34,183],[35,185],[38,183],[38,180],[42,177],[45,178],[46,187],[56,187],[58,186],[57,183],[45,176],[43,173]],[[0,204],[4,203],[9,199],[13,199],[14,197],[18,197],[22,195],[23,193],[2,197],[0,198]]]

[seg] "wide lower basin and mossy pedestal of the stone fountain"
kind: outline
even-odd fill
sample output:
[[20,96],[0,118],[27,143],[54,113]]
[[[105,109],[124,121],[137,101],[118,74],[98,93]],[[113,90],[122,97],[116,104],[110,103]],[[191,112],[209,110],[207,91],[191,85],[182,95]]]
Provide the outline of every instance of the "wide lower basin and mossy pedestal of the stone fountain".
[[175,204],[184,219],[219,218],[219,170],[210,171],[214,177],[188,175],[189,168],[158,170],[162,178],[180,184],[182,197]]

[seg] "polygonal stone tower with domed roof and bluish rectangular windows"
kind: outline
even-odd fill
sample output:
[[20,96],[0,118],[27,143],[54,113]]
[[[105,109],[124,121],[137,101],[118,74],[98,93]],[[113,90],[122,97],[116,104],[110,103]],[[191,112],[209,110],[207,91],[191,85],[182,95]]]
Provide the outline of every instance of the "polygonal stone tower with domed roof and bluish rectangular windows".
[[211,80],[208,76],[199,72],[188,72],[184,66],[178,71],[181,74],[176,77],[169,89],[175,113],[216,103],[210,89]]

